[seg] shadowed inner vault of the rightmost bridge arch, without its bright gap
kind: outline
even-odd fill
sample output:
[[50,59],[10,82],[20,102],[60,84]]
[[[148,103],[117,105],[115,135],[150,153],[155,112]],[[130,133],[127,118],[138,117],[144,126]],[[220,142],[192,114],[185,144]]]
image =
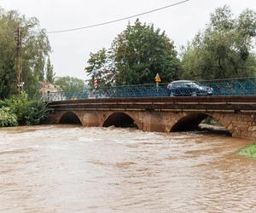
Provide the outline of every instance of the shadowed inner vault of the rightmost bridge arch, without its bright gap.
[[[224,125],[221,122],[221,119],[215,118],[212,116],[212,114],[203,113],[203,112],[197,112],[197,113],[189,113],[186,115],[183,115],[183,117],[179,118],[176,123],[172,125],[171,132],[174,131],[193,131],[198,130],[199,124],[206,118],[210,118],[211,120],[214,120],[215,122],[219,123],[220,128],[212,128],[212,130],[215,130],[216,132],[223,132],[226,135],[232,135],[232,133],[227,129],[227,126]],[[203,128],[207,129],[207,127]]]

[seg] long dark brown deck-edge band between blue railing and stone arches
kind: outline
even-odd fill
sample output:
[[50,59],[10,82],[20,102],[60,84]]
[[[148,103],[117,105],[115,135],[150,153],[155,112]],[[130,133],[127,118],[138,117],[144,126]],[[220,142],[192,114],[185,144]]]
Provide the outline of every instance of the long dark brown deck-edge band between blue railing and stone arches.
[[96,100],[52,101],[49,107],[63,110],[153,110],[184,112],[256,112],[256,95],[196,96],[158,98],[116,98]]

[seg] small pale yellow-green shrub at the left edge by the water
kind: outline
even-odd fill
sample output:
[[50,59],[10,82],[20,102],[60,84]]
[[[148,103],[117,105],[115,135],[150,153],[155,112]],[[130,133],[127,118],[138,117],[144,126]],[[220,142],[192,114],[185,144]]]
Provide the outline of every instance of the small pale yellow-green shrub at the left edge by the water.
[[0,127],[18,125],[15,113],[9,107],[0,108]]

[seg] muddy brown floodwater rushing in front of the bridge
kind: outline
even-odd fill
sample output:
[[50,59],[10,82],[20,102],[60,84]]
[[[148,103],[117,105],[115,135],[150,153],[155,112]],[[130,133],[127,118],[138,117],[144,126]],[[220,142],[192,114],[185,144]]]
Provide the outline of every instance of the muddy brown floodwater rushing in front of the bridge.
[[0,212],[256,212],[250,141],[45,125],[0,129]]

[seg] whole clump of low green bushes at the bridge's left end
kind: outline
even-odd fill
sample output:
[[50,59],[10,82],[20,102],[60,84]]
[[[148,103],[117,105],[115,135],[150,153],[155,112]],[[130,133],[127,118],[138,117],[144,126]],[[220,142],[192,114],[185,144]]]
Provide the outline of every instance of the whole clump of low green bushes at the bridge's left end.
[[41,124],[49,109],[42,100],[29,100],[26,93],[0,101],[0,127]]

